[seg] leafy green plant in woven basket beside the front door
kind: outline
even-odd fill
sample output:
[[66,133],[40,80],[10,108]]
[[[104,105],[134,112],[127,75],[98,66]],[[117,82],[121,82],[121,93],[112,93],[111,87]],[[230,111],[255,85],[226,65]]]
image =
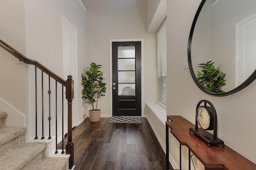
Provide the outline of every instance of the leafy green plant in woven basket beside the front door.
[[[82,98],[87,100],[86,103],[92,106],[92,109],[89,110],[90,121],[96,122],[100,121],[101,110],[98,109],[98,99],[101,96],[105,96],[106,93],[106,83],[103,83],[103,73],[98,70],[102,65],[97,65],[95,63],[90,64],[90,70],[85,72],[85,75],[82,75]],[[95,104],[96,103],[96,107]]]

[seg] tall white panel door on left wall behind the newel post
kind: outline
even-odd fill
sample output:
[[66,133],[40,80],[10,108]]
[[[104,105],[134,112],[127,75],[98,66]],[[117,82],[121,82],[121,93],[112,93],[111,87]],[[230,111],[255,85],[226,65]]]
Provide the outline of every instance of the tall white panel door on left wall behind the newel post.
[[[72,104],[72,127],[77,124],[77,29],[62,16],[63,27],[63,78],[68,75],[74,80],[74,99]],[[67,107],[67,105],[64,105]],[[66,110],[66,108],[65,108]]]

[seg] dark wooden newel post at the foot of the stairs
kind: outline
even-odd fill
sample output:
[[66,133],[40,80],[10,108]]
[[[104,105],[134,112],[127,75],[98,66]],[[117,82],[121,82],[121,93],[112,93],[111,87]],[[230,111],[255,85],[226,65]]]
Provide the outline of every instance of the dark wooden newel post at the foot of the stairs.
[[68,143],[66,145],[66,154],[69,157],[69,169],[74,166],[74,143],[72,141],[72,100],[74,98],[74,80],[68,76],[66,80],[66,99],[68,100]]

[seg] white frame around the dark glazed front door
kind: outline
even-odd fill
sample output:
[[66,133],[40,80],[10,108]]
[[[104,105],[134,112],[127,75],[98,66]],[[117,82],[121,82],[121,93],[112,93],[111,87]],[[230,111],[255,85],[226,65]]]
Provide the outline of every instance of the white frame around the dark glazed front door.
[[110,96],[110,117],[112,117],[112,42],[140,41],[141,42],[141,116],[144,117],[144,43],[142,39],[110,39],[109,40],[109,96]]

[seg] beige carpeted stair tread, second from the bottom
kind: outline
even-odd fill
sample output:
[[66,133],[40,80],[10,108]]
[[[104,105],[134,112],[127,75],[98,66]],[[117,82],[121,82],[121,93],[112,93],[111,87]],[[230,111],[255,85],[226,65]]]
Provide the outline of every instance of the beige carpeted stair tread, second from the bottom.
[[23,143],[1,156],[0,170],[19,170],[43,152],[46,147],[46,143]]

